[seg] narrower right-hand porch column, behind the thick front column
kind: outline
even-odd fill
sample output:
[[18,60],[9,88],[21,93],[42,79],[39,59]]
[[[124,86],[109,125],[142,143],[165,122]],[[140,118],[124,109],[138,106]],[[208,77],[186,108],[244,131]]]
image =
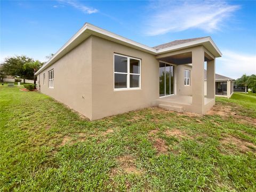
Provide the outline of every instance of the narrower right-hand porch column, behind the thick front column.
[[207,61],[207,98],[215,98],[215,59]]

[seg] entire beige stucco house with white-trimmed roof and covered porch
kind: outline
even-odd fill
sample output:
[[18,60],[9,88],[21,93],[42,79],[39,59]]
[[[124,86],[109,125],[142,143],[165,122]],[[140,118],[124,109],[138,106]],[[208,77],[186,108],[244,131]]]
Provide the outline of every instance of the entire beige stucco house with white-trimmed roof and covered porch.
[[152,106],[205,114],[215,103],[218,57],[211,37],[149,47],[85,23],[36,72],[37,86],[91,120]]

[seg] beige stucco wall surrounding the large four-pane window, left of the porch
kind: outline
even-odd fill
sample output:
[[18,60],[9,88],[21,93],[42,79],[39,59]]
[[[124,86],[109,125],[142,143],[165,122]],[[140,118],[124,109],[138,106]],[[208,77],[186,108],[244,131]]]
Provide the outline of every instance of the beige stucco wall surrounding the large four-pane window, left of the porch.
[[[114,53],[141,59],[141,89],[114,91]],[[92,119],[156,105],[159,62],[154,55],[92,37]]]

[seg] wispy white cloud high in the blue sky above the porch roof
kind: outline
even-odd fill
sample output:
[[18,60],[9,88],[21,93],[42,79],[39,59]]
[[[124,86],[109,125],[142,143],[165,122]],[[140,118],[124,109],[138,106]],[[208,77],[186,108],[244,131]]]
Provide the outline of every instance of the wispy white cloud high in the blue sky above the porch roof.
[[149,6],[145,34],[149,36],[198,28],[220,30],[223,21],[239,9],[221,1],[157,1]]

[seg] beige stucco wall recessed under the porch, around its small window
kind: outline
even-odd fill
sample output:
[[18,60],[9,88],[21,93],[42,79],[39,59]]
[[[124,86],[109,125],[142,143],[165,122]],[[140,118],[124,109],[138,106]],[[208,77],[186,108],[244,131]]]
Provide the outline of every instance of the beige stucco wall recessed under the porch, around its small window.
[[[191,71],[192,67],[188,65],[175,66],[177,71],[177,94],[192,96],[192,82],[191,82]],[[190,85],[184,83],[184,70],[190,70]]]

